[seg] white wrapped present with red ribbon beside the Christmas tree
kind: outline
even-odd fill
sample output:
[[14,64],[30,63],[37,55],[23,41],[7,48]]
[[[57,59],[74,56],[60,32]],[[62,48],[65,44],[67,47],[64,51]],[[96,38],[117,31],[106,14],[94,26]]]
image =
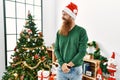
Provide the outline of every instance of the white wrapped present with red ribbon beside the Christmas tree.
[[38,71],[38,80],[49,80],[50,71],[40,70]]

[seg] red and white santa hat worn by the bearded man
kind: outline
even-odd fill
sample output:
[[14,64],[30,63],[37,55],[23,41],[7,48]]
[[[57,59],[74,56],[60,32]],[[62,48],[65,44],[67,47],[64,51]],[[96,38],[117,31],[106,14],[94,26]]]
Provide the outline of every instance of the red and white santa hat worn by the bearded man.
[[77,13],[78,13],[78,7],[76,4],[70,2],[70,4],[68,4],[64,10],[66,13],[68,13],[73,19],[76,18]]

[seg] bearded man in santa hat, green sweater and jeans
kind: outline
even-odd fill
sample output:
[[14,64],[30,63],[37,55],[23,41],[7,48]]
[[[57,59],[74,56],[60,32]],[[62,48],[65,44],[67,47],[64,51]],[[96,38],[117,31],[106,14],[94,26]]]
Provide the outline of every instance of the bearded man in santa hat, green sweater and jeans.
[[62,11],[63,24],[57,32],[54,50],[60,65],[57,80],[82,80],[88,37],[86,30],[75,24],[77,13],[77,5],[72,2]]

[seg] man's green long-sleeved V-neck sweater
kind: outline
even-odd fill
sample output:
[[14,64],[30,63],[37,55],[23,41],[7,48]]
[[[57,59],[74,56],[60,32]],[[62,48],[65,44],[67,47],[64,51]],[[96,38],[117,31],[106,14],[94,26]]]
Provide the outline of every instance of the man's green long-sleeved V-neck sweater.
[[80,66],[86,54],[87,41],[86,30],[78,25],[75,25],[68,36],[57,32],[54,52],[60,66],[70,61],[75,64],[75,67]]

